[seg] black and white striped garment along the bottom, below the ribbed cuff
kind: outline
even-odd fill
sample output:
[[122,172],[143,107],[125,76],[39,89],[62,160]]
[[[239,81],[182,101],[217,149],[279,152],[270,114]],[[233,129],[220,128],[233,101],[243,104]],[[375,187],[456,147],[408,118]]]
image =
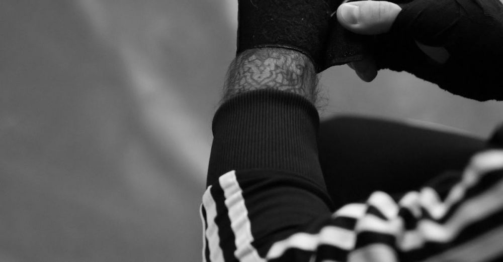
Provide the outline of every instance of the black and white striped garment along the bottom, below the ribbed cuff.
[[203,261],[503,260],[503,151],[457,175],[330,212],[323,189],[295,173],[230,171],[203,195]]

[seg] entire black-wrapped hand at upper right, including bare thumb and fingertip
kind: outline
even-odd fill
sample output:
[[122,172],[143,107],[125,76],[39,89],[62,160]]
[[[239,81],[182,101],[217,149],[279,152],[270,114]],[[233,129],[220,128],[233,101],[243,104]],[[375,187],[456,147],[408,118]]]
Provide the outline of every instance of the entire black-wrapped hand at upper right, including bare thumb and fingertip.
[[350,31],[374,35],[372,56],[351,66],[365,81],[377,70],[406,71],[453,94],[503,100],[501,0],[391,0],[341,5]]

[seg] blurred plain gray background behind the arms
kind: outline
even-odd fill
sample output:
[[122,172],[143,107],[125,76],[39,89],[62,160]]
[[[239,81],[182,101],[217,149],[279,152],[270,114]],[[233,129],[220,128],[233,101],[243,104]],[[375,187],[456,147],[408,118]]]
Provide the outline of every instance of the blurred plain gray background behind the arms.
[[[236,0],[0,1],[0,261],[200,261]],[[322,75],[323,117],[485,138],[503,104],[406,73]]]

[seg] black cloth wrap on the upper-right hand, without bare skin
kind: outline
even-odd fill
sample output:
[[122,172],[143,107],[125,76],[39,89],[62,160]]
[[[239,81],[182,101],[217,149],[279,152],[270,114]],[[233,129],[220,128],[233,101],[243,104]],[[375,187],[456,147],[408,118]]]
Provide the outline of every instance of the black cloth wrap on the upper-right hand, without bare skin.
[[[499,0],[414,0],[400,6],[390,32],[373,42],[378,69],[407,71],[479,101],[503,100],[503,5]],[[446,48],[449,59],[437,63],[415,40]]]

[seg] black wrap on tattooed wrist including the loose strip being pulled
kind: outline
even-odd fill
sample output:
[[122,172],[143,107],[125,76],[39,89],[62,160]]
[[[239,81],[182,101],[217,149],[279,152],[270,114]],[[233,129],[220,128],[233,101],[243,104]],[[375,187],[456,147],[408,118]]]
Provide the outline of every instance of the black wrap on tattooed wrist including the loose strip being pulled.
[[364,37],[344,29],[334,13],[343,0],[238,0],[237,54],[262,47],[302,52],[320,72],[361,60]]

